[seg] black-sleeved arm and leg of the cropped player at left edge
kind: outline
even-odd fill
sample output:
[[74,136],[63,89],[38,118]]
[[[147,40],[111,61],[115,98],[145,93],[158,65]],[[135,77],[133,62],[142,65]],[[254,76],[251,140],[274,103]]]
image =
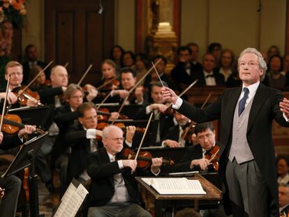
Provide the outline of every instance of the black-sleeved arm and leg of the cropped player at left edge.
[[[14,135],[0,132],[0,149],[7,150],[23,144],[25,134],[31,134],[36,130],[34,126],[26,125]],[[0,176],[1,176],[0,172]],[[1,216],[14,217],[21,188],[21,180],[15,176],[0,177],[0,214]]]

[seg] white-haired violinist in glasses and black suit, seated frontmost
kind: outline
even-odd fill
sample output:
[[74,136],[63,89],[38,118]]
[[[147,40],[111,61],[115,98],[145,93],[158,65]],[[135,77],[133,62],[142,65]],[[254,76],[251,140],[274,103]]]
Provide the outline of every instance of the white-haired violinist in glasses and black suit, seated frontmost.
[[[103,145],[104,148],[87,160],[87,173],[91,177],[88,216],[151,216],[139,205],[136,160],[119,160],[123,149],[122,130],[117,126],[105,128]],[[161,158],[152,158],[151,173],[158,174],[161,164]]]

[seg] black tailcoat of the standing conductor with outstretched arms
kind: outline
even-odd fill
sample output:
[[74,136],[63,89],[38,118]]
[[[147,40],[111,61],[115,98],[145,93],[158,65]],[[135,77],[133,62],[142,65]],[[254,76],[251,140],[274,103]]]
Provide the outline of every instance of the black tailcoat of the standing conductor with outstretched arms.
[[[198,107],[192,107],[186,102],[179,108],[181,114],[186,115],[197,123],[221,119],[219,173],[223,177],[225,184],[225,167],[228,162],[227,153],[229,153],[232,143],[233,118],[241,91],[242,88],[226,89],[219,100],[208,105],[203,110]],[[272,141],[272,121],[275,119],[281,126],[289,127],[289,123],[283,118],[283,113],[279,108],[281,100],[282,94],[280,91],[265,87],[265,85],[260,83],[253,98],[246,134],[255,162],[269,188],[267,204],[273,216],[278,216],[279,214],[279,203]],[[228,200],[228,190],[226,190],[224,207],[228,208]]]

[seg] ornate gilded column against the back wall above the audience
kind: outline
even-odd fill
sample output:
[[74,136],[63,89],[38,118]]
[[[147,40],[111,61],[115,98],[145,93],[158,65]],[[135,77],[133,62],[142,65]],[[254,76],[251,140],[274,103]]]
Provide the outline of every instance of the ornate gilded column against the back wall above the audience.
[[174,0],[149,0],[147,52],[149,57],[163,55],[168,59],[167,72],[175,66],[178,38],[172,29]]

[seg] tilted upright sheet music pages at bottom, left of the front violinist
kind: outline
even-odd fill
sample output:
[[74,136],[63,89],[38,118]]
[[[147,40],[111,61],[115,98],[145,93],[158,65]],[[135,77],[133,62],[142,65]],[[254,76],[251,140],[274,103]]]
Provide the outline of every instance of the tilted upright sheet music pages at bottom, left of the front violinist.
[[54,214],[54,217],[73,217],[77,214],[78,209],[85,197],[87,196],[88,191],[82,184],[75,186],[71,183],[64,196],[61,198],[61,204],[59,205],[57,212]]

